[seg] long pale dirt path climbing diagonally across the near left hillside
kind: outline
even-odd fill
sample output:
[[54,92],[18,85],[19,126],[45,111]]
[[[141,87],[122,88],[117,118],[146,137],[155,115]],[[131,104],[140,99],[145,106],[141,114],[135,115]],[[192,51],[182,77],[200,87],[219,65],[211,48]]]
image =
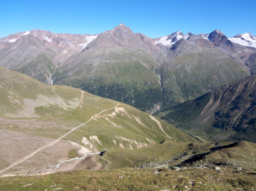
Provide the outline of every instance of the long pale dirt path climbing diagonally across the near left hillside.
[[[117,106],[119,106],[119,103],[117,103]],[[117,106],[115,106],[115,107],[117,107]],[[20,163],[23,162],[24,160],[27,160],[28,158],[34,156],[36,153],[38,153],[39,151],[45,149],[46,147],[50,147],[50,146],[56,144],[59,140],[61,140],[61,138],[63,138],[63,137],[65,137],[65,136],[69,135],[69,134],[72,133],[74,130],[78,129],[79,127],[83,126],[84,124],[89,123],[94,117],[100,115],[100,114],[103,113],[104,111],[108,111],[108,110],[113,109],[113,108],[115,108],[115,107],[111,107],[111,108],[109,108],[109,109],[105,109],[105,110],[101,111],[100,113],[98,113],[98,114],[96,114],[96,115],[93,115],[87,122],[84,122],[84,123],[81,124],[80,126],[77,126],[77,127],[73,128],[71,131],[69,131],[69,132],[66,133],[65,135],[59,137],[56,141],[52,142],[51,144],[48,144],[47,146],[42,147],[41,149],[37,149],[37,150],[34,151],[31,155],[27,156],[26,158],[23,158],[22,160],[20,160],[19,162],[13,164],[12,166],[9,166],[9,167],[7,167],[6,169],[0,171],[0,173],[2,173],[2,172],[4,172],[4,171],[7,171],[8,169],[10,169],[11,167],[16,166],[17,164],[20,164]]]

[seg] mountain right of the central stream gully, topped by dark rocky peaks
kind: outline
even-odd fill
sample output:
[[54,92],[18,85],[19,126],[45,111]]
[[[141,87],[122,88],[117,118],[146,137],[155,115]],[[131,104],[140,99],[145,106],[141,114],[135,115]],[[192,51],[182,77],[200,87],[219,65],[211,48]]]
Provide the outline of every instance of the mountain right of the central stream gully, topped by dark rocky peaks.
[[[156,73],[161,75],[163,89],[174,102],[196,98],[219,85],[248,75],[234,59],[216,44],[229,48],[223,33],[213,31],[209,39],[190,34],[158,54]],[[230,43],[228,43],[230,42]]]

